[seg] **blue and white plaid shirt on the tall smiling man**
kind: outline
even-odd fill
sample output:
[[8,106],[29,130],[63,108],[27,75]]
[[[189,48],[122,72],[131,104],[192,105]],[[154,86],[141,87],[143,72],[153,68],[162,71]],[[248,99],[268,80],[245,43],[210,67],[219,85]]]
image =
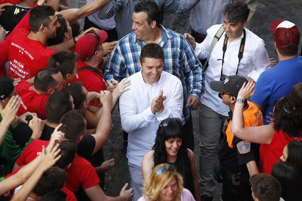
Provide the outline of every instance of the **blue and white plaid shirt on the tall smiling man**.
[[[161,26],[162,35],[159,46],[162,47],[165,61],[164,71],[175,75],[183,87],[183,121],[185,124],[190,116],[190,108],[186,106],[188,96],[194,95],[200,99],[204,93],[204,71],[201,63],[184,36]],[[104,72],[105,80],[122,80],[140,71],[138,60],[140,51],[146,43],[135,36],[135,32],[120,39],[110,53]],[[171,83],[173,86],[175,83]]]

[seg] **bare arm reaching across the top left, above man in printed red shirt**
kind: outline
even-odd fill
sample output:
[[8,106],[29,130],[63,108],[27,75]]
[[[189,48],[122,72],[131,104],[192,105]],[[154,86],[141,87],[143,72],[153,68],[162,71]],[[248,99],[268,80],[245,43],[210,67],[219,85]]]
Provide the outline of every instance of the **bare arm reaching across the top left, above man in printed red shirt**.
[[71,8],[60,11],[60,14],[62,14],[68,22],[72,22],[73,20],[87,17],[88,15],[95,13],[109,1],[110,0],[95,0],[84,5],[82,8]]

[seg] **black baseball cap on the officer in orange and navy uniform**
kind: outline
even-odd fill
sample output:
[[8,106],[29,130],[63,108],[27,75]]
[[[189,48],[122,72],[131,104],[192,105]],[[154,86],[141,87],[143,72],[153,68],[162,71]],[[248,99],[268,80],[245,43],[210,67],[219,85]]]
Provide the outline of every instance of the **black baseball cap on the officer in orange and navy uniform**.
[[241,89],[244,82],[248,82],[245,77],[240,75],[231,75],[222,81],[211,81],[210,87],[217,92],[229,93],[232,96],[238,96],[238,92]]

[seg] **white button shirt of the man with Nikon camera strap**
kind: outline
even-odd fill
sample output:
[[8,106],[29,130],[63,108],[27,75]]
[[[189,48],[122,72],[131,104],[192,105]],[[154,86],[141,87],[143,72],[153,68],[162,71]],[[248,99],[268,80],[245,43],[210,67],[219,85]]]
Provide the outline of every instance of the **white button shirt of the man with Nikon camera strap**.
[[[222,24],[217,24],[210,27],[207,30],[207,37],[202,43],[196,43],[196,48],[194,50],[195,55],[199,59],[206,59],[210,49],[213,38]],[[246,42],[243,51],[243,57],[240,60],[238,75],[246,77],[247,79],[252,78],[255,82],[258,80],[259,75],[270,68],[270,62],[268,54],[265,50],[264,41],[256,36],[251,31],[246,30]],[[215,92],[210,87],[210,81],[220,80],[221,75],[221,64],[222,61],[217,59],[222,59],[223,51],[223,39],[225,33],[222,34],[219,41],[214,47],[211,57],[209,59],[209,67],[205,71],[205,93],[201,96],[200,101],[216,111],[219,114],[227,116],[229,107],[223,104],[222,100],[218,97],[218,92]],[[227,42],[227,49],[224,55],[223,64],[223,74],[224,75],[235,75],[238,65],[238,52],[241,43],[242,35],[232,42]]]

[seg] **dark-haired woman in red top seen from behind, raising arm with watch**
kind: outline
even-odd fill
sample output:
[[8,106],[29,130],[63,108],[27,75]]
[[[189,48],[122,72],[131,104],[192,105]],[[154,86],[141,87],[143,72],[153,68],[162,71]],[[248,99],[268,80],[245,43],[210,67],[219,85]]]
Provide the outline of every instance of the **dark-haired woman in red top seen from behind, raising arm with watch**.
[[[237,99],[245,101],[252,96],[255,83],[243,84]],[[271,174],[271,169],[280,161],[284,147],[292,141],[302,140],[302,108],[293,96],[285,96],[275,101],[274,124],[245,127],[243,105],[236,103],[233,112],[232,132],[242,140],[259,143],[260,172]]]

